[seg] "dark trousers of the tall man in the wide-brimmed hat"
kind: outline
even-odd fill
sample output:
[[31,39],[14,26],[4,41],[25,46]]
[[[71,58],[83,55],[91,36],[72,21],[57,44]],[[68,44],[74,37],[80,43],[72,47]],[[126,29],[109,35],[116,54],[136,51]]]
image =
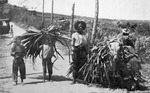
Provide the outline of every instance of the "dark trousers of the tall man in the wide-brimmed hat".
[[86,47],[75,47],[72,55],[73,60],[73,78],[79,78],[79,70],[87,61]]

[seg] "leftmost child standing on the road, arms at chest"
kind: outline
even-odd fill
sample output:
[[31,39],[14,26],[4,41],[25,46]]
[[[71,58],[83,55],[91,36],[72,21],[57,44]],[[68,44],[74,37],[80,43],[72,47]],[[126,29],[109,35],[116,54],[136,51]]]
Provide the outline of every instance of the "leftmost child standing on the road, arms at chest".
[[11,48],[11,56],[13,59],[12,75],[15,84],[18,84],[18,70],[20,71],[21,83],[24,85],[23,80],[26,78],[26,68],[23,57],[25,56],[25,47],[21,44],[21,36],[16,36]]

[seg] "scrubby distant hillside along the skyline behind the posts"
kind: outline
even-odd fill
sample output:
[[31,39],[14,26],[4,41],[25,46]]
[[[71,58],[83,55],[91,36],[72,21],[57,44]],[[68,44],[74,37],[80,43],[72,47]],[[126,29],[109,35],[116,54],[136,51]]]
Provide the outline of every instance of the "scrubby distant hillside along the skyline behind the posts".
[[[9,11],[10,10],[10,11]],[[42,13],[37,12],[34,10],[28,10],[25,7],[19,7],[11,4],[5,4],[4,11],[6,14],[8,13],[11,20],[16,23],[25,24],[27,27],[33,26],[37,29],[40,28],[42,24]],[[63,14],[56,14],[54,13],[54,22],[57,23],[57,21],[60,18],[64,18],[68,21],[71,20],[70,15],[63,15]],[[45,26],[50,25],[51,23],[51,13],[44,13],[45,18]],[[76,20],[83,20],[85,21],[87,25],[87,30],[92,30],[93,26],[93,20],[94,18],[91,17],[85,17],[85,16],[78,16],[75,15],[75,21]],[[98,21],[98,29],[104,30],[104,31],[116,31],[118,30],[118,22],[122,24],[126,24],[129,22],[130,24],[137,24],[138,25],[138,32],[145,35],[150,35],[150,21],[148,20],[117,20],[117,19],[99,19]],[[143,33],[144,32],[144,33]]]

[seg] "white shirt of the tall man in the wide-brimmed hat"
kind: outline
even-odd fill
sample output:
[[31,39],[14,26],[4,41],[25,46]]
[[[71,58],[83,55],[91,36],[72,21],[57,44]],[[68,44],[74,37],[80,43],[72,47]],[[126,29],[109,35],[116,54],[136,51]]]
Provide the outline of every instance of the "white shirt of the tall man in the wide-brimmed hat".
[[[72,34],[72,41],[73,39],[75,39],[75,46],[79,46],[79,45],[86,45],[87,44],[87,36],[86,35],[81,35],[77,32]],[[73,44],[73,42],[71,43]]]

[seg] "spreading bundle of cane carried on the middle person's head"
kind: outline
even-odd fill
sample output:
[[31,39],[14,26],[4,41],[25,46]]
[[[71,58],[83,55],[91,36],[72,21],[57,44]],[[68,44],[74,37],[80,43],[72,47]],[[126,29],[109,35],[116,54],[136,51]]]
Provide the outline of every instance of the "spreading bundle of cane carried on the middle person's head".
[[56,42],[60,42],[63,46],[68,47],[68,39],[60,34],[59,29],[56,26],[49,26],[40,31],[30,29],[22,35],[22,43],[26,49],[26,57],[32,59],[33,63],[37,56],[40,56],[42,45],[46,40],[49,41],[49,45],[54,49],[56,55],[53,56],[57,56],[56,58],[58,58],[58,55],[62,57],[62,55],[57,51]]

